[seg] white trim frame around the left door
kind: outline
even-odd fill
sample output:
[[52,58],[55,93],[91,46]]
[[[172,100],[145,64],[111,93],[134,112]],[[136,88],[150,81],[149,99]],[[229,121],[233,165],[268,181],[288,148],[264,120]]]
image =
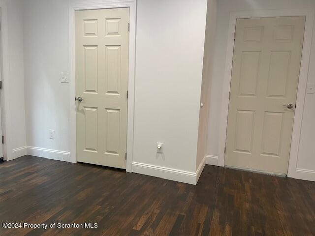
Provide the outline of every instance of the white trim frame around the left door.
[[133,126],[134,126],[134,86],[135,86],[135,47],[136,47],[136,2],[137,0],[97,0],[89,3],[70,3],[70,162],[76,163],[76,102],[75,92],[75,11],[129,7],[129,65],[128,65],[128,120],[127,120],[127,160],[126,171],[132,172]]

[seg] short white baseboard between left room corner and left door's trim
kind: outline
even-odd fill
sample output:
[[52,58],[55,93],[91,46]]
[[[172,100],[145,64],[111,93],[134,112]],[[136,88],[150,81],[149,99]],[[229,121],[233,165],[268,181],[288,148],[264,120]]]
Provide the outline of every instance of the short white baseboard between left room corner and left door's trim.
[[47,148],[36,148],[27,147],[27,154],[32,156],[43,157],[58,161],[70,162],[70,152],[69,151],[59,151]]

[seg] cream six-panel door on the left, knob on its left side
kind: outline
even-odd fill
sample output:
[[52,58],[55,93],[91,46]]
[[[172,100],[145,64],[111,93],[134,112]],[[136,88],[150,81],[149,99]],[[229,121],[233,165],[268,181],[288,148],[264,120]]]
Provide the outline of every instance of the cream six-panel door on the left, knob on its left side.
[[75,13],[78,162],[126,169],[128,19],[129,8]]

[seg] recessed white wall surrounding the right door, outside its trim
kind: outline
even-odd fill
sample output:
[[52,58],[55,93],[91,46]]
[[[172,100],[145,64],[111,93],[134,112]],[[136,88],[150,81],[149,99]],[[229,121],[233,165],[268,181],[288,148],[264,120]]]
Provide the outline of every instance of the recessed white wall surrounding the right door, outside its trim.
[[[314,0],[220,0],[218,1],[218,17],[216,31],[216,50],[211,84],[210,114],[208,127],[207,154],[218,156],[218,136],[221,114],[222,85],[225,69],[225,55],[229,15],[232,11],[246,11],[254,9],[290,9],[290,8],[315,8]],[[311,62],[308,83],[315,84],[315,34],[313,35]],[[300,140],[297,168],[306,169],[315,173],[315,95],[307,94],[303,126]]]

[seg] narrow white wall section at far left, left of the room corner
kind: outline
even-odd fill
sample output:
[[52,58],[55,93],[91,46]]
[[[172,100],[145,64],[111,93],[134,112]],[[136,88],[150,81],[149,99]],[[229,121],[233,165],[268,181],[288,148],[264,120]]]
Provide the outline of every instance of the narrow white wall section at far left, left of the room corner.
[[[0,1],[2,13],[6,17],[3,26],[6,47],[4,52],[4,135],[6,160],[21,154],[19,148],[26,146],[25,134],[25,96],[24,96],[24,64],[23,64],[23,18],[19,0]],[[6,14],[5,14],[6,13]],[[7,29],[7,31],[6,31]],[[6,34],[6,35],[5,35]],[[7,72],[7,73],[6,73]],[[17,149],[17,150],[16,150]],[[23,154],[23,150],[22,150]],[[25,154],[25,153],[24,153]]]

